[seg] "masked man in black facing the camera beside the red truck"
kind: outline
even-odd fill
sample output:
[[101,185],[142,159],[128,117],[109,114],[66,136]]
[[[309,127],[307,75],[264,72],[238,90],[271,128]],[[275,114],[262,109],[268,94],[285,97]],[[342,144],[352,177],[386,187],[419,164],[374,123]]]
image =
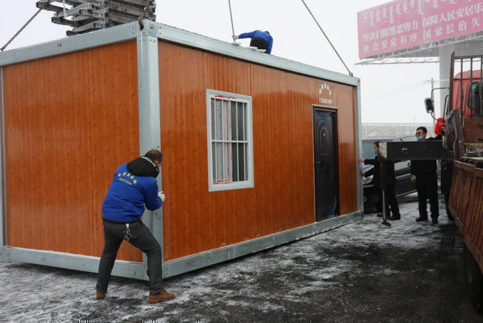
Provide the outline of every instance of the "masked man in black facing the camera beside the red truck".
[[[427,134],[428,130],[423,126],[416,129],[418,141],[441,140],[440,135],[436,138],[426,138]],[[428,220],[426,199],[429,198],[432,223],[438,223],[439,205],[436,170],[437,163],[435,159],[411,160],[411,181],[416,183],[416,190],[418,191],[419,218],[416,218],[416,222]]]

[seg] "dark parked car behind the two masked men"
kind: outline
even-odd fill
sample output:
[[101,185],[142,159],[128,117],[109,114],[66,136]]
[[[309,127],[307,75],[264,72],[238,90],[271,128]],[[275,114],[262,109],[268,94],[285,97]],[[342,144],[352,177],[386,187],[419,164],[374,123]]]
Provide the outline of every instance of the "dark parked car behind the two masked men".
[[[373,144],[376,141],[415,141],[414,136],[404,137],[373,137],[362,139],[362,158],[373,159],[375,157]],[[372,169],[373,165],[364,165],[364,173]],[[401,197],[416,192],[416,185],[411,182],[411,161],[401,160],[394,164],[396,173],[396,197]],[[379,201],[378,191],[373,184],[373,176],[368,176],[363,180],[364,184],[364,212],[381,212],[381,202]]]

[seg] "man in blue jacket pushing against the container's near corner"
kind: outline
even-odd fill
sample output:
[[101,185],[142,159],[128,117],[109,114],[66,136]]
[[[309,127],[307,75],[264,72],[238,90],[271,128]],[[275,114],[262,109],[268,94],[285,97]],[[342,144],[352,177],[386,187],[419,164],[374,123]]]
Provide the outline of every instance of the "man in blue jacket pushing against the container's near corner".
[[147,256],[150,272],[149,303],[171,301],[175,295],[163,288],[161,246],[141,221],[146,209],[159,209],[165,199],[158,192],[157,176],[163,155],[150,150],[127,164],[119,166],[102,204],[104,250],[99,262],[98,284],[95,296],[105,298],[117,251],[123,240],[140,249]]

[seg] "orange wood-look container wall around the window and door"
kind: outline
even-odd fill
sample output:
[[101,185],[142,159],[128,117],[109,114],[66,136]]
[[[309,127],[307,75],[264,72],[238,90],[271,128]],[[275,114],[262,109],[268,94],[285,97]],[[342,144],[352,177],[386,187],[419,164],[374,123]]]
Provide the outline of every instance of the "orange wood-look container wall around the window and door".
[[[357,211],[352,86],[159,42],[165,260],[315,222],[312,105],[338,108],[340,213]],[[208,191],[206,89],[251,95],[255,187]]]

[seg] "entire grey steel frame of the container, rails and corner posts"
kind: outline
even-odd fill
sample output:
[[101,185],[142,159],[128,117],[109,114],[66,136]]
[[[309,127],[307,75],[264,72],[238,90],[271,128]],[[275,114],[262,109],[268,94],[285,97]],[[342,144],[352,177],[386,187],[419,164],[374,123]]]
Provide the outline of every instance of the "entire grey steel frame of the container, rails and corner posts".
[[[61,55],[63,53],[70,53],[74,51],[84,50],[86,48],[94,48],[97,46],[104,46],[107,44],[114,44],[121,41],[136,40],[138,52],[138,104],[139,104],[139,126],[140,126],[140,154],[144,154],[150,149],[161,149],[161,129],[160,115],[159,115],[159,74],[158,74],[158,39],[166,41],[173,41],[178,44],[200,48],[206,51],[227,55],[233,58],[242,60],[249,60],[251,62],[258,62],[269,67],[279,68],[281,70],[288,70],[297,72],[312,77],[318,77],[327,81],[336,81],[343,84],[355,86],[355,109],[356,111],[356,139],[360,138],[360,129],[357,122],[360,121],[360,80],[355,77],[348,77],[336,72],[330,72],[311,67],[298,62],[285,60],[283,58],[276,58],[274,56],[255,53],[246,48],[239,48],[232,44],[223,41],[210,39],[191,32],[186,32],[181,29],[169,27],[166,25],[151,22],[149,20],[143,21],[147,26],[143,31],[137,22],[103,29],[99,32],[88,33],[67,39],[60,39],[58,41],[50,41],[45,44],[36,46],[29,46],[28,50],[19,48],[18,50],[8,51],[0,54],[0,86],[1,86],[1,101],[0,107],[2,112],[1,124],[4,126],[4,86],[3,86],[3,65],[13,64],[15,62],[24,62],[27,60],[34,60],[39,58],[50,57],[53,55]],[[84,38],[86,37],[86,38]],[[91,37],[91,38],[89,38]],[[154,68],[153,68],[154,65]],[[4,127],[3,127],[4,128]],[[2,131],[2,151],[4,154],[5,144],[4,131]],[[360,150],[359,143],[356,143],[357,150]],[[5,155],[4,155],[5,156]],[[1,166],[3,171],[3,180],[1,185],[1,223],[0,232],[0,257],[13,261],[24,261],[27,263],[34,263],[39,265],[50,265],[58,268],[66,268],[72,270],[83,270],[86,272],[97,272],[99,258],[94,256],[76,255],[72,253],[61,253],[58,251],[42,251],[34,249],[23,249],[18,247],[11,247],[7,245],[6,237],[6,173],[4,157],[1,159]],[[357,178],[357,183],[360,179]],[[161,187],[161,176],[158,178],[158,185]],[[360,185],[359,185],[360,186]],[[287,242],[304,237],[310,237],[317,233],[324,232],[337,228],[340,225],[352,223],[355,220],[360,220],[362,215],[362,189],[358,190],[358,209],[359,211],[345,214],[337,218],[331,218],[318,223],[312,223],[303,227],[293,228],[284,232],[278,232],[273,235],[267,235],[257,239],[249,240],[248,242],[241,242],[232,244],[219,249],[211,251],[204,251],[191,256],[174,259],[173,261],[163,260],[163,276],[171,277],[180,275],[184,272],[196,270],[199,268],[213,265],[223,261],[228,261],[239,256],[244,256],[249,253],[268,249],[273,246],[279,246]],[[152,230],[154,237],[161,244],[163,250],[163,221],[162,208],[157,211],[145,211],[143,215],[143,222],[148,228],[159,228]],[[4,225],[5,224],[5,225]],[[164,258],[164,257],[163,257]],[[130,277],[137,279],[149,279],[146,275],[147,259],[143,254],[143,263],[131,261],[116,261],[112,275],[121,277]]]

